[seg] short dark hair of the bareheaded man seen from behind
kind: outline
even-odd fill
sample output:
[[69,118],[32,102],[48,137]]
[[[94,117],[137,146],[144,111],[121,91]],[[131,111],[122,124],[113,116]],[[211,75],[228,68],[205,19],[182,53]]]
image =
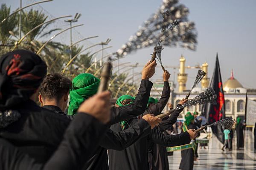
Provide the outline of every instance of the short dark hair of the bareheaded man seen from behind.
[[70,90],[72,82],[59,73],[51,73],[44,77],[40,87],[43,99],[56,99],[59,101]]

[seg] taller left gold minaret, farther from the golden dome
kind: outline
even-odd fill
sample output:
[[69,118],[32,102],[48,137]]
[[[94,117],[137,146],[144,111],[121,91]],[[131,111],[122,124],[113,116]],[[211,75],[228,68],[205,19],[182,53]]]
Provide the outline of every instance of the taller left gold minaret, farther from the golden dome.
[[186,81],[188,74],[185,73],[185,61],[186,59],[181,55],[180,57],[180,72],[178,73],[179,92],[186,90]]

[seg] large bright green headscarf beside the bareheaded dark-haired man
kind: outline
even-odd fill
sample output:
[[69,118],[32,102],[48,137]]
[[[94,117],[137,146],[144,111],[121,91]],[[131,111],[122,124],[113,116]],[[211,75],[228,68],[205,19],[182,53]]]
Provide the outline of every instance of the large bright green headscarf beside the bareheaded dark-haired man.
[[79,74],[73,79],[67,115],[76,114],[81,103],[97,93],[99,82],[100,79],[89,73]]

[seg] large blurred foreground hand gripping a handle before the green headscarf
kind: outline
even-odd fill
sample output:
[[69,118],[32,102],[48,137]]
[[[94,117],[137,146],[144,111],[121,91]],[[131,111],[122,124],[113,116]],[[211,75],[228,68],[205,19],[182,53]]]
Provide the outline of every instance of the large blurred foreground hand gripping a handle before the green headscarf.
[[104,91],[100,94],[96,94],[85,100],[80,105],[78,112],[90,114],[102,123],[106,124],[110,121],[110,96],[111,94],[109,91]]

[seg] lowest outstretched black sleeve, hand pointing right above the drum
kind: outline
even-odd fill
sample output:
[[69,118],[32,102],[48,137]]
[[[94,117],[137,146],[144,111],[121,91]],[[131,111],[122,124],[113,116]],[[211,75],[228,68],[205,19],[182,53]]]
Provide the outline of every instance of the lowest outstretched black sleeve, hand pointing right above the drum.
[[164,147],[180,146],[190,143],[190,136],[188,132],[183,132],[177,135],[165,135],[157,128],[151,130],[151,135],[148,136],[149,140]]

